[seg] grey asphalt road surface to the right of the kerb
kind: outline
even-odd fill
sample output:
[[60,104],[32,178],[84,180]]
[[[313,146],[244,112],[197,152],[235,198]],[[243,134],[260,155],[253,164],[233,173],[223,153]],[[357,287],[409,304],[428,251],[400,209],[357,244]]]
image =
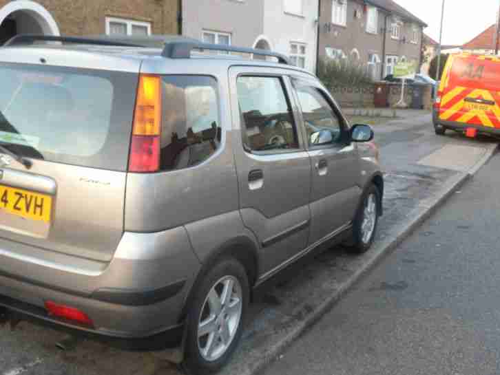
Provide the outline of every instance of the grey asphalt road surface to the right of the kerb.
[[500,154],[265,375],[500,373]]

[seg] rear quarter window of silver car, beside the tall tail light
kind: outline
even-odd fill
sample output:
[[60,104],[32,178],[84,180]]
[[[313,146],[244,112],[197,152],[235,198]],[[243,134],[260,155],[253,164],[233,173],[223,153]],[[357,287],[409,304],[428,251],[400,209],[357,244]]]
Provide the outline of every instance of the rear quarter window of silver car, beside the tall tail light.
[[220,147],[217,82],[209,76],[164,76],[160,168],[193,167]]

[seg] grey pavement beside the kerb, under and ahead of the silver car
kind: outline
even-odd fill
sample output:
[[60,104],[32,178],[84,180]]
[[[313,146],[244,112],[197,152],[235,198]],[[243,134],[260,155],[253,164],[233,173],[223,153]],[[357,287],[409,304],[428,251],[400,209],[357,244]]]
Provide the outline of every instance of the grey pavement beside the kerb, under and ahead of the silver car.
[[[405,115],[407,114],[407,115]],[[404,111],[375,127],[386,170],[385,213],[377,239],[363,256],[336,247],[301,265],[293,277],[251,305],[242,343],[221,374],[256,374],[320,319],[361,275],[433,213],[492,156],[497,143],[450,133],[435,136],[430,113]],[[452,165],[453,168],[450,168]],[[83,341],[61,352],[63,334],[21,322],[0,330],[0,375],[177,375],[161,355],[124,352]]]

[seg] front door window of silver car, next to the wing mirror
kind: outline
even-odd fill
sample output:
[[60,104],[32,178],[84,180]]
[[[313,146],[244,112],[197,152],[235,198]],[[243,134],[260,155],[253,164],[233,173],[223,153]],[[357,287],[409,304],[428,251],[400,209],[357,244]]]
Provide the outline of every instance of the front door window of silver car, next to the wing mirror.
[[293,85],[299,98],[309,147],[339,143],[342,139],[342,122],[324,94],[317,87],[299,81]]

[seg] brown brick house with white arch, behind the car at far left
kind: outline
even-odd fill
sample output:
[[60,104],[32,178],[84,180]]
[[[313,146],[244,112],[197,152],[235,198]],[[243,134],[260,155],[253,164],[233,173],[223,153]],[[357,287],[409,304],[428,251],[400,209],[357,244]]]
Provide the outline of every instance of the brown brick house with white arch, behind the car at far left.
[[179,34],[180,0],[0,0],[0,45],[15,34]]

